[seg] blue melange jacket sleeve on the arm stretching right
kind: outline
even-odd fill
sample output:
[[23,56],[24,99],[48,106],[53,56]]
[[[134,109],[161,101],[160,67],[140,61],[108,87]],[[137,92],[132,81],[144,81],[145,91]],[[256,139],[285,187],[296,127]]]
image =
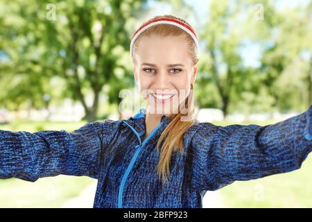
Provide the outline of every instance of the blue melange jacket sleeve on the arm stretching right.
[[192,139],[193,173],[200,190],[300,169],[312,151],[312,105],[302,114],[267,126],[200,125]]

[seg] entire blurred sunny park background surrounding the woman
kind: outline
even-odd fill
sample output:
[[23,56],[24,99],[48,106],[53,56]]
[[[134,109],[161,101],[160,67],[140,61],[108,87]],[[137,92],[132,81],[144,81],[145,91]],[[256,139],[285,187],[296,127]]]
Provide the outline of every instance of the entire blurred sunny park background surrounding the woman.
[[[119,109],[119,92],[135,89],[130,40],[164,14],[198,33],[199,121],[288,119],[312,104],[311,12],[309,0],[0,0],[0,129],[72,131],[132,116]],[[311,171],[310,155],[300,170],[208,191],[203,207],[312,207]],[[0,180],[0,207],[92,207],[95,189],[87,177]]]

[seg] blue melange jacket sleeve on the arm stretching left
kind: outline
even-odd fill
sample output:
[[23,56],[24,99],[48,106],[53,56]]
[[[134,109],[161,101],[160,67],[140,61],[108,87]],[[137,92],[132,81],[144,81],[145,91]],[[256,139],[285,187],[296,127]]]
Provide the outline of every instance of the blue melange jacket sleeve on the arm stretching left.
[[89,176],[97,178],[103,123],[87,123],[72,133],[0,130],[0,178],[34,182],[38,178]]

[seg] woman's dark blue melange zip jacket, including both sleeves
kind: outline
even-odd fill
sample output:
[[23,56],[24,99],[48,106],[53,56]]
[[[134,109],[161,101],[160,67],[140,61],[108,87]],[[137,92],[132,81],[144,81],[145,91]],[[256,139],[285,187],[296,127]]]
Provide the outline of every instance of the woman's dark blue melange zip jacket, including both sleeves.
[[157,176],[157,139],[170,119],[143,141],[145,109],[129,119],[87,123],[78,130],[0,130],[0,178],[57,176],[98,180],[94,207],[202,207],[205,192],[236,180],[300,169],[312,151],[312,105],[267,126],[198,122],[173,153],[168,183]]

